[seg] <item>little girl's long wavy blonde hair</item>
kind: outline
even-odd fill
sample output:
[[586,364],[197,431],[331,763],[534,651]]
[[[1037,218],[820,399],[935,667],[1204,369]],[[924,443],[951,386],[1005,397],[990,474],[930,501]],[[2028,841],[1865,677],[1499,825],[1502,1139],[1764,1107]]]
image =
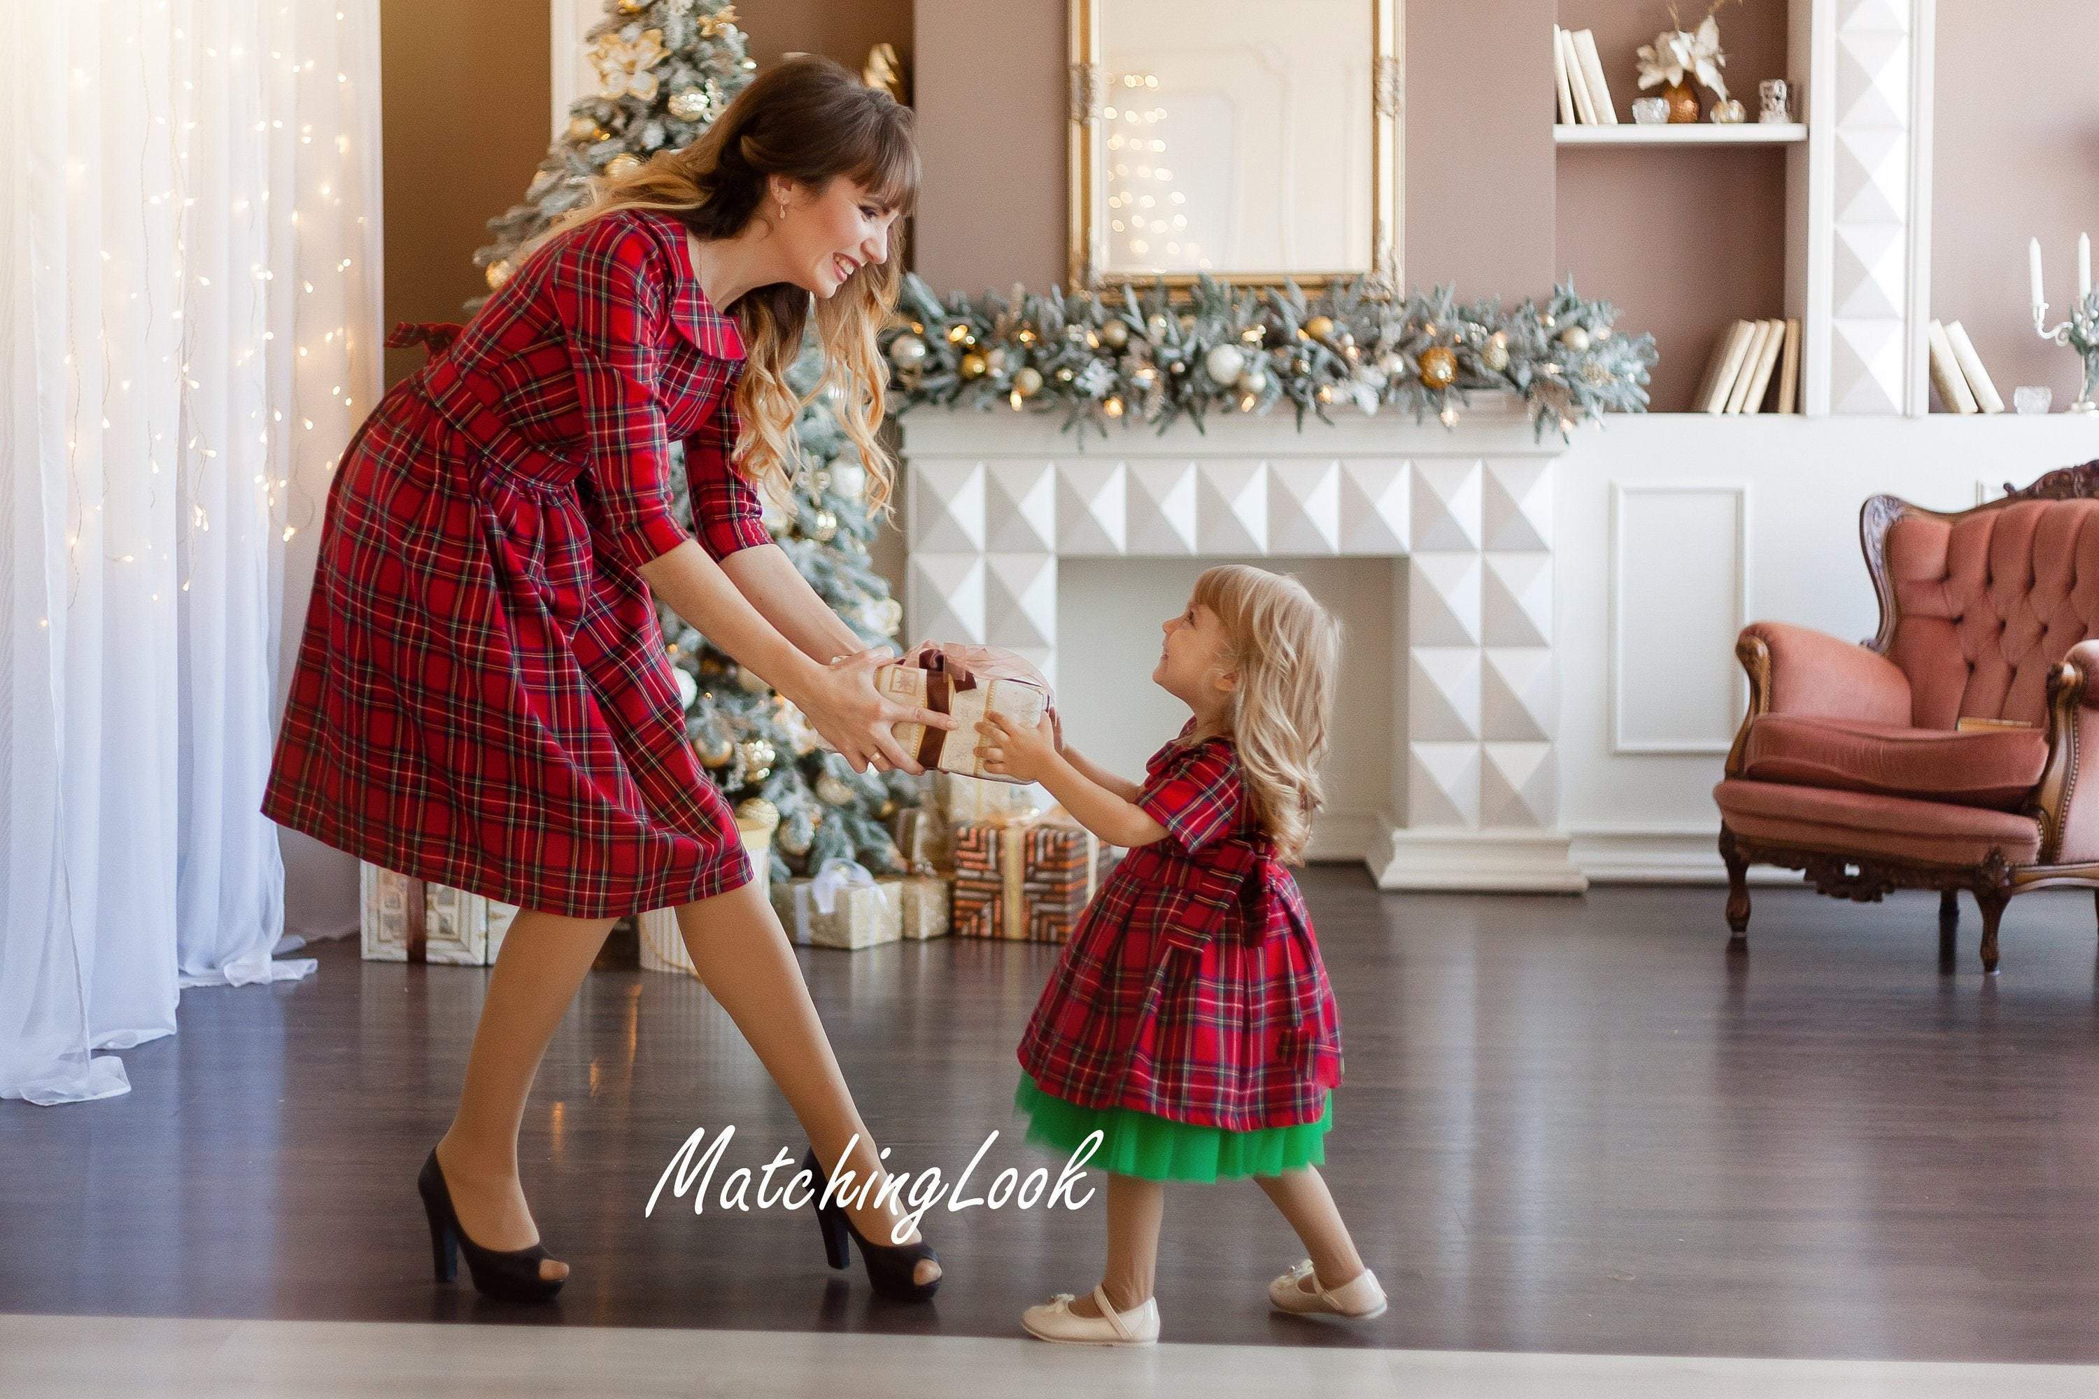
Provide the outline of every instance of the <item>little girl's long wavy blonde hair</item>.
[[1261,831],[1289,864],[1303,862],[1312,816],[1327,803],[1318,768],[1333,722],[1341,623],[1306,585],[1247,564],[1217,564],[1194,581],[1196,606],[1224,623],[1220,663],[1238,671],[1232,742]]

